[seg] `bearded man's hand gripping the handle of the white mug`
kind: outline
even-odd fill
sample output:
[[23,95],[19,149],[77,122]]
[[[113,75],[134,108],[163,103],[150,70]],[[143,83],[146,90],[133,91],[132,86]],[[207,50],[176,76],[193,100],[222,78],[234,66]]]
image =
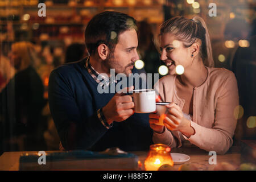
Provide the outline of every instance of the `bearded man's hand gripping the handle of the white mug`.
[[[130,86],[127,93],[134,89]],[[133,98],[125,93],[116,93],[107,105],[102,108],[102,112],[106,118],[106,122],[113,123],[113,121],[125,121],[134,114]]]

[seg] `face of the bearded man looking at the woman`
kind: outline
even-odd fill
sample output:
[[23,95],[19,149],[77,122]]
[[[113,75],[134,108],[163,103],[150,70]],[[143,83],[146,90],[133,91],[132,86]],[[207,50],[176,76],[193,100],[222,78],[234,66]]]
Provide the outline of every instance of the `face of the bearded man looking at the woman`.
[[115,73],[125,73],[128,76],[134,67],[134,62],[139,59],[137,47],[137,32],[134,29],[122,32],[119,34],[114,53],[110,53],[106,64],[109,68],[114,68]]

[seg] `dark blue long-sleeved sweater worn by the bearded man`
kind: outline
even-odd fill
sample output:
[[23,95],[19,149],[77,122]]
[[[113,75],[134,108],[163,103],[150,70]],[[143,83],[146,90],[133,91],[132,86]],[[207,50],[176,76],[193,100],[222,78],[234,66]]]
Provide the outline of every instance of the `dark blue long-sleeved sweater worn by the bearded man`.
[[[97,82],[86,71],[85,60],[64,64],[49,77],[49,107],[66,150],[102,151],[119,147],[125,151],[148,150],[152,130],[148,114],[133,114],[106,129],[96,111],[111,100],[113,93],[97,92]],[[133,73],[139,73],[138,69]]]

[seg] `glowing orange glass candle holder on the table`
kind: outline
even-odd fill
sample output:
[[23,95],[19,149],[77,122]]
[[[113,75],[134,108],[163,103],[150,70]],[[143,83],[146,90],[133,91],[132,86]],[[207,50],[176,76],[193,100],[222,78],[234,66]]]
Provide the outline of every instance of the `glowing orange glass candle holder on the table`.
[[157,143],[150,146],[147,158],[144,162],[146,171],[157,171],[159,167],[164,164],[174,166],[174,162],[171,157],[171,148],[166,144]]

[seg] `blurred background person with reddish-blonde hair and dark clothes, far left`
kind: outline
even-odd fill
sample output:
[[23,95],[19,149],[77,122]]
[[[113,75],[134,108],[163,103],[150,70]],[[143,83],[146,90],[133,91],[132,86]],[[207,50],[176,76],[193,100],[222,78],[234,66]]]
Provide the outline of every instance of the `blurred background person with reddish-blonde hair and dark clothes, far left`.
[[16,42],[11,46],[11,64],[15,76],[0,93],[3,128],[3,150],[44,150],[43,131],[46,122],[42,108],[43,83],[32,67],[34,45]]

